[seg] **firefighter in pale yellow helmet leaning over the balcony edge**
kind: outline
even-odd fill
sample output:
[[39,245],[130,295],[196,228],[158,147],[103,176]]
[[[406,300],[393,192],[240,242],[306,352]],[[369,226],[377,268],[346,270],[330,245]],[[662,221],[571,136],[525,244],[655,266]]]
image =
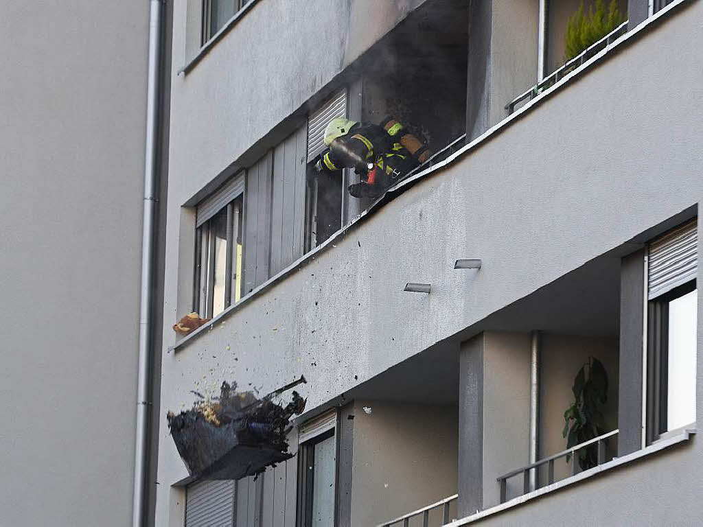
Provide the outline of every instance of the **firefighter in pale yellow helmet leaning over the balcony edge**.
[[395,139],[378,124],[337,117],[325,129],[324,141],[328,150],[320,154],[315,168],[323,174],[343,168],[354,169],[361,177],[361,183],[349,186],[349,194],[379,197],[419,164],[417,158]]

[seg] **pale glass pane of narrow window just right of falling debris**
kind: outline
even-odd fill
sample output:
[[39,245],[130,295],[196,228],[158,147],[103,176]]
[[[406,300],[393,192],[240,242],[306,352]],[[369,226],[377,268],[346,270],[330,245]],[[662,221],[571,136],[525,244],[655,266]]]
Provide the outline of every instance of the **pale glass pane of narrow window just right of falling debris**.
[[335,436],[315,445],[313,466],[311,525],[329,527],[335,524]]

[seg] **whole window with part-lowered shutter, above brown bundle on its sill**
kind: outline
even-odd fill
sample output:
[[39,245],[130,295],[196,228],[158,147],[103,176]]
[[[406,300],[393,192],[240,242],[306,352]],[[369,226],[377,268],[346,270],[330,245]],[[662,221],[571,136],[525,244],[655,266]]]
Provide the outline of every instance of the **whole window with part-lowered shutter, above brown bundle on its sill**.
[[198,205],[193,311],[219,315],[242,294],[244,178],[237,176]]

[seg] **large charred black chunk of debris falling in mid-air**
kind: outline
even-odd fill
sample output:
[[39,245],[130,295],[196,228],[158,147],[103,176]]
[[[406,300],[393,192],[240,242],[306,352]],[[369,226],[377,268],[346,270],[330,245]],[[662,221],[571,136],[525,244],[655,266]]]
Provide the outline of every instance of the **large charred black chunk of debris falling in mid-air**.
[[289,421],[302,413],[306,399],[297,391],[285,406],[273,398],[304,382],[301,376],[261,399],[252,391],[236,391],[236,382],[223,382],[219,398],[201,398],[178,415],[168,412],[171,436],[189,474],[201,479],[240,479],[290,459]]

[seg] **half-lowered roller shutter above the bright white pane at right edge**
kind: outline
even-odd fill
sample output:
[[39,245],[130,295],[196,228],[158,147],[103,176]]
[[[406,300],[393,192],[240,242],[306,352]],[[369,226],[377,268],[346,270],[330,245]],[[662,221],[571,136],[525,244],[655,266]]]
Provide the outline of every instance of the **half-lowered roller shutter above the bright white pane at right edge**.
[[697,233],[698,221],[695,219],[650,243],[647,275],[650,300],[696,278]]

